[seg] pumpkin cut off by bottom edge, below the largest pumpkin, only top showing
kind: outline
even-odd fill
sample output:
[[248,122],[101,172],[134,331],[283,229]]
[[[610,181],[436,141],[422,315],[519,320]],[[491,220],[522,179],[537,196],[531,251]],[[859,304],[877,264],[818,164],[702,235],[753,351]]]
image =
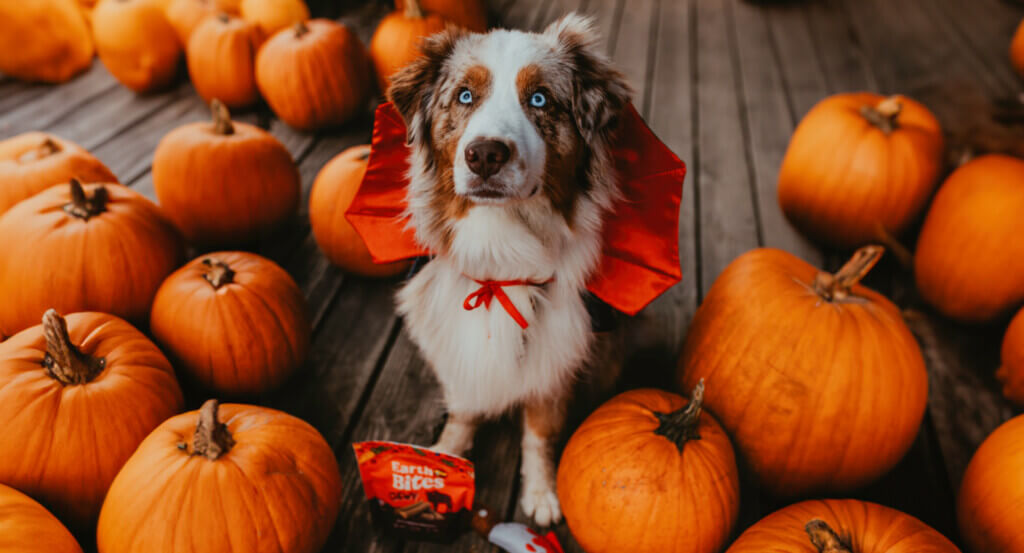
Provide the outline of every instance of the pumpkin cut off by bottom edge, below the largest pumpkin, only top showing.
[[791,505],[746,528],[726,553],[959,553],[916,518],[876,503],[815,500]]

